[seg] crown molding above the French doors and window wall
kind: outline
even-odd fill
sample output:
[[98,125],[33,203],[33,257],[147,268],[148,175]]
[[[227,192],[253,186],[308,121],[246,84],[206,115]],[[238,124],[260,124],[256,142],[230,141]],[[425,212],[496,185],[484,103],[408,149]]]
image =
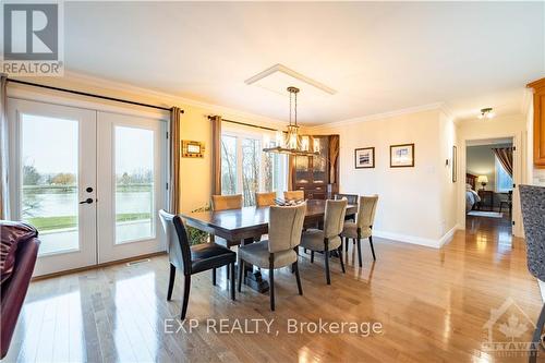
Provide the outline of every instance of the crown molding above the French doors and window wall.
[[254,124],[266,123],[266,124],[277,125],[278,128],[283,128],[288,124],[288,122],[286,122],[286,121],[272,119],[272,118],[269,118],[269,117],[266,117],[263,114],[256,114],[256,113],[237,110],[237,109],[229,108],[226,106],[197,101],[194,99],[190,99],[190,98],[185,98],[185,97],[181,97],[181,96],[175,96],[172,94],[168,94],[168,93],[164,93],[164,92],[159,92],[159,90],[155,90],[155,89],[150,89],[150,88],[135,86],[135,85],[130,84],[130,83],[111,81],[111,80],[101,78],[101,77],[97,77],[97,76],[93,76],[93,75],[88,75],[88,74],[84,74],[84,73],[80,73],[80,72],[64,71],[63,78],[68,82],[74,82],[76,84],[81,84],[82,86],[94,86],[94,87],[102,88],[105,90],[130,93],[130,94],[133,94],[137,97],[157,98],[157,99],[161,100],[160,102],[158,102],[157,106],[171,107],[173,105],[180,105],[180,106],[191,106],[191,107],[204,108],[204,109],[207,109],[210,113],[221,114],[225,118],[235,117],[238,119],[241,119],[241,121],[245,121],[245,122],[254,123]]

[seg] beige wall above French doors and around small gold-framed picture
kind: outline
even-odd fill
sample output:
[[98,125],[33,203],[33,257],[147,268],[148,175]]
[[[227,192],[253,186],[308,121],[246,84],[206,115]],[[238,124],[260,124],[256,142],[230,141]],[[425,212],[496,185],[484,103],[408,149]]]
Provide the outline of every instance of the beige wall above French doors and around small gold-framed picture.
[[[25,80],[28,81],[28,80]],[[249,114],[215,105],[204,105],[181,97],[159,94],[148,89],[112,83],[94,77],[69,75],[57,78],[33,78],[33,83],[41,83],[57,87],[64,87],[81,92],[94,93],[104,96],[129,99],[133,101],[146,102],[156,106],[172,107],[178,106],[184,110],[181,117],[181,138],[194,140],[205,143],[206,152],[204,159],[182,158],[180,165],[181,174],[181,206],[183,211],[193,210],[206,205],[211,193],[211,158],[210,140],[211,126],[207,119],[209,114],[221,114],[226,119],[242,121],[251,124],[283,129],[286,123],[280,120],[269,119],[261,116]],[[45,90],[36,87],[9,84],[8,94],[12,97],[33,98],[36,96],[48,96],[51,102],[71,105],[82,100],[92,101],[100,107],[116,106],[125,108],[128,111],[150,112],[153,109],[133,107],[120,102],[101,101],[96,98],[75,96],[65,93]],[[156,112],[156,111],[154,111]],[[156,112],[157,113],[157,112]],[[169,112],[162,112],[165,118]]]

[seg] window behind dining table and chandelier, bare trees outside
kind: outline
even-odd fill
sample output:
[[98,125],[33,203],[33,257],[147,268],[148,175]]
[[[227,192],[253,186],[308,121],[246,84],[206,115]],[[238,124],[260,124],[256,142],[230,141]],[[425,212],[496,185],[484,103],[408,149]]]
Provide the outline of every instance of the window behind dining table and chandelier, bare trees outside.
[[221,135],[221,194],[243,194],[244,206],[251,206],[256,192],[287,190],[288,157],[263,153],[267,136],[237,131]]

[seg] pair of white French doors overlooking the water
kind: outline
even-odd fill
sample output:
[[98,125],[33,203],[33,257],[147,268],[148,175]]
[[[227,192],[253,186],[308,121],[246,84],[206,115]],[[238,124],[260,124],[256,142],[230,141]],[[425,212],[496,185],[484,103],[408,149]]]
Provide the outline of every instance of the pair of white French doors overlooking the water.
[[165,122],[10,98],[12,219],[41,241],[35,276],[164,250]]

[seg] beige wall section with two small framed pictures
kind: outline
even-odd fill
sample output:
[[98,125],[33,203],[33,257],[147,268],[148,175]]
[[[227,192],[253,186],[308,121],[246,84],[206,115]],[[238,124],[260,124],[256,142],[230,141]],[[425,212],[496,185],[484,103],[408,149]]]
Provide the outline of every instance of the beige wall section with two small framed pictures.
[[[445,165],[455,126],[440,110],[305,131],[340,135],[340,191],[379,195],[375,234],[437,247],[455,227],[451,173]],[[415,144],[414,168],[390,168],[389,146],[404,143]],[[376,167],[355,169],[354,149],[368,146],[375,147]],[[452,201],[445,199],[445,193]]]

